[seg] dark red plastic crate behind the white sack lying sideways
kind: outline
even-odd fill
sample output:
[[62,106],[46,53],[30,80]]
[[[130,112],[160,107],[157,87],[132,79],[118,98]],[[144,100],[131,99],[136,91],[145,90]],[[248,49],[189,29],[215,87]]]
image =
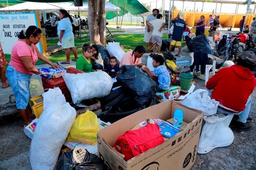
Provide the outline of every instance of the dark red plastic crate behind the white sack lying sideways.
[[[77,73],[84,73],[84,71],[80,71],[76,68],[70,67],[70,68],[67,68],[67,73],[77,74]],[[64,94],[66,100],[71,99],[70,91],[68,90],[63,77],[58,77],[55,79],[46,79],[42,77],[42,83],[43,83],[44,92],[47,92],[49,88],[58,87],[61,89],[62,94]]]

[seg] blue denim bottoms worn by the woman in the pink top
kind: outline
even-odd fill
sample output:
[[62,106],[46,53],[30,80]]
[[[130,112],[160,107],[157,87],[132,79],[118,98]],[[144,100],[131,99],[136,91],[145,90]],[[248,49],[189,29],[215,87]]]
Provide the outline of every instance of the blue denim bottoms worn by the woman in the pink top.
[[32,75],[20,73],[9,65],[6,69],[6,77],[12,86],[17,109],[26,109],[29,104],[29,84]]

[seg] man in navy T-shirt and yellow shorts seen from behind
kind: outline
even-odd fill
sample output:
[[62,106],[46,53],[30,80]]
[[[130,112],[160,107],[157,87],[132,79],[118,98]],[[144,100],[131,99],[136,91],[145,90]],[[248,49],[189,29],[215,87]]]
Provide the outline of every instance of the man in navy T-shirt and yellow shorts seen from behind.
[[177,17],[172,20],[172,23],[174,24],[173,33],[172,33],[172,42],[169,47],[169,51],[172,49],[172,45],[178,46],[178,54],[175,54],[175,56],[180,57],[180,51],[181,51],[181,38],[183,35],[183,31],[186,30],[186,23],[182,19],[183,13],[179,12],[177,14]]

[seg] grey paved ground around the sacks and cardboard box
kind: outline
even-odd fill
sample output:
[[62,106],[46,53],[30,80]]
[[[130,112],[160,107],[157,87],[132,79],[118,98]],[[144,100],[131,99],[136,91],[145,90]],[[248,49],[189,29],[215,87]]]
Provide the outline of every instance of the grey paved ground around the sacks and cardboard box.
[[[189,59],[187,49],[184,49],[181,55],[182,58]],[[146,62],[146,58],[147,55],[144,55],[143,62]],[[71,63],[71,65],[73,64]],[[36,77],[35,75],[33,78],[40,80],[40,77]],[[196,89],[204,88],[204,80],[195,78],[194,81]],[[250,114],[255,118],[256,91],[253,92],[252,97],[253,102]],[[0,106],[2,106],[0,108],[0,114],[8,113],[11,109],[15,109],[9,106],[14,102],[12,89],[0,88]],[[22,125],[22,118],[17,113],[0,117],[0,170],[31,169],[29,161],[29,145],[31,139],[23,133]],[[247,132],[238,133],[233,130],[235,140],[230,146],[216,148],[207,154],[198,155],[195,165],[191,170],[255,170],[255,121],[252,122],[252,125],[252,129]]]

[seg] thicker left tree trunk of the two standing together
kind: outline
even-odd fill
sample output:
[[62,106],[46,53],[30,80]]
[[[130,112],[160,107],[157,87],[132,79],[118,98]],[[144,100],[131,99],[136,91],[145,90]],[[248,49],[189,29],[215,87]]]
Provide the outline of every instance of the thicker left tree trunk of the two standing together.
[[97,25],[98,0],[88,0],[88,26],[90,34],[90,44],[100,44],[99,26]]

